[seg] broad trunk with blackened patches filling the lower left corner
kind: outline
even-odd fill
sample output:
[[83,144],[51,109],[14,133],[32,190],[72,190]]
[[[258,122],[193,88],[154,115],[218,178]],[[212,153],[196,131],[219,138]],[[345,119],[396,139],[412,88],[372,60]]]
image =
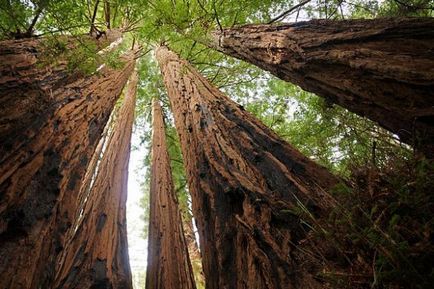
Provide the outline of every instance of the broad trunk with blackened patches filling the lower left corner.
[[133,67],[131,54],[122,69],[53,87],[50,108],[2,152],[0,288],[50,287],[87,164]]

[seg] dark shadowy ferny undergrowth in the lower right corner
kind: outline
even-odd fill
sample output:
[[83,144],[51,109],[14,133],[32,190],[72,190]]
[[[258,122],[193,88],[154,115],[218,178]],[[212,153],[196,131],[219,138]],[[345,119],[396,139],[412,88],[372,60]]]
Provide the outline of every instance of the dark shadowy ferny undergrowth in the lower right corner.
[[357,168],[350,179],[334,188],[328,219],[300,214],[313,223],[317,277],[331,288],[432,288],[433,163]]

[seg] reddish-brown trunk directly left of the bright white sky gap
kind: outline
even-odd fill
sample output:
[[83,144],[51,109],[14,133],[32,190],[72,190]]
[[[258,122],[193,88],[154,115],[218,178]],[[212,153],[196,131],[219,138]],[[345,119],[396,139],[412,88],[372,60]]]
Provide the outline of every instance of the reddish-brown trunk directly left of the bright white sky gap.
[[90,189],[82,187],[84,204],[78,207],[77,219],[67,234],[53,288],[132,288],[126,200],[137,81],[134,72],[114,125],[108,129],[102,156],[98,155],[101,161]]

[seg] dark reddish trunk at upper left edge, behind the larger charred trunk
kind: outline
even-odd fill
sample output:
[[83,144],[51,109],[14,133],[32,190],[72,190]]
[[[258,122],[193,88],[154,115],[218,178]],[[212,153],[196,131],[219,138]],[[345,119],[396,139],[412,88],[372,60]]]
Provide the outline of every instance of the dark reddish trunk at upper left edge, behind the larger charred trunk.
[[[58,41],[67,50],[95,45],[106,51],[121,36],[120,31],[111,30],[99,39],[82,35]],[[58,101],[53,97],[55,91],[83,78],[82,73],[68,68],[66,59],[51,55],[58,48],[48,43],[44,38],[0,41],[0,163],[53,116]]]

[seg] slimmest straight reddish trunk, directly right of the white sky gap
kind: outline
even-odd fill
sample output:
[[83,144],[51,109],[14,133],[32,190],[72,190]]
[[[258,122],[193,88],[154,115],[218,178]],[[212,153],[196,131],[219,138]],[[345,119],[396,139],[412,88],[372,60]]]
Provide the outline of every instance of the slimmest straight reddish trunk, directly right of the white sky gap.
[[152,166],[148,239],[148,289],[195,289],[193,270],[178,208],[163,114],[153,103]]

